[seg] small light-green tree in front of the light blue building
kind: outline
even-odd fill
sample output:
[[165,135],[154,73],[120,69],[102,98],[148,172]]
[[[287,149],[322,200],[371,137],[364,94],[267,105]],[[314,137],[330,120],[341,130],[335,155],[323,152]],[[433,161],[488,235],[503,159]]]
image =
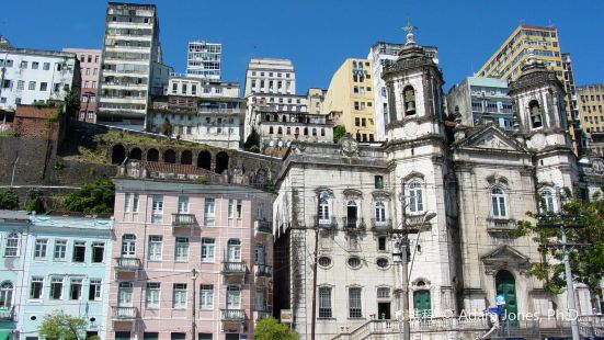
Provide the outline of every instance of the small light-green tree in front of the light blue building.
[[88,321],[86,318],[77,318],[65,314],[62,310],[56,310],[44,316],[38,332],[46,339],[98,340],[99,337],[96,336],[86,337],[87,326]]

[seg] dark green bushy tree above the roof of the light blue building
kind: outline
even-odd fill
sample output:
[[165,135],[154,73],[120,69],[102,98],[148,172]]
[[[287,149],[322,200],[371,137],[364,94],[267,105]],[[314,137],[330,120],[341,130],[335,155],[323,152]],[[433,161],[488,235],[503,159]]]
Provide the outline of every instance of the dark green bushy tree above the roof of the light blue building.
[[82,213],[113,213],[115,185],[110,179],[86,183],[65,199],[65,209]]

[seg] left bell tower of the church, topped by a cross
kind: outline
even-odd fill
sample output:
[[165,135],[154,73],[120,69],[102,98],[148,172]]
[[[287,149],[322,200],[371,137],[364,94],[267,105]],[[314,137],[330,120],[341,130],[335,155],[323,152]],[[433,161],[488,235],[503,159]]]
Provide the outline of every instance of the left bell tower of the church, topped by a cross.
[[389,140],[411,140],[443,134],[443,75],[423,47],[415,44],[413,30],[408,25],[407,43],[398,59],[384,68],[383,79],[388,91]]

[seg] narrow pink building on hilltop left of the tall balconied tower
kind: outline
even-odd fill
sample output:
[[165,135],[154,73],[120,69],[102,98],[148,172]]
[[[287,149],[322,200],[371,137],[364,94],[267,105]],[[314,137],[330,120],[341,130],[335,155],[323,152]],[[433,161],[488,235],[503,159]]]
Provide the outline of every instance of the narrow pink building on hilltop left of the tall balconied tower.
[[101,49],[64,48],[62,52],[76,54],[80,60],[82,90],[78,120],[94,123],[96,121],[96,88],[101,67]]

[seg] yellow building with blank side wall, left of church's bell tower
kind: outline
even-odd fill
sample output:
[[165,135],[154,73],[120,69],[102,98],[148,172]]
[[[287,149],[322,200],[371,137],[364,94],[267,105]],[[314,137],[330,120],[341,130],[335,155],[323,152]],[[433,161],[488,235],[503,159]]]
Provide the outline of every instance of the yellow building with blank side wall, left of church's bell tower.
[[372,61],[349,58],[333,73],[323,101],[323,113],[340,111],[343,125],[360,141],[375,140]]

